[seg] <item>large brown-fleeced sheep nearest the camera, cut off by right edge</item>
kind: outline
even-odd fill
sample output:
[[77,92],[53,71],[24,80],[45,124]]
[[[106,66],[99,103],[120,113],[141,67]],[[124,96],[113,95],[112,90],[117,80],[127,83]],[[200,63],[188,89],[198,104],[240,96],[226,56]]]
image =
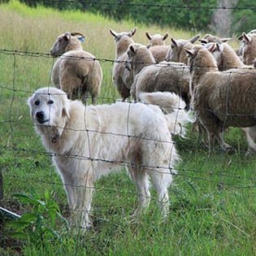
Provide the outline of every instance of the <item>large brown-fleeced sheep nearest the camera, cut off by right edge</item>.
[[223,140],[223,131],[231,126],[256,125],[256,73],[237,69],[219,72],[214,56],[203,46],[186,52],[190,59],[193,110],[208,133],[209,152],[213,138],[223,150],[233,150]]

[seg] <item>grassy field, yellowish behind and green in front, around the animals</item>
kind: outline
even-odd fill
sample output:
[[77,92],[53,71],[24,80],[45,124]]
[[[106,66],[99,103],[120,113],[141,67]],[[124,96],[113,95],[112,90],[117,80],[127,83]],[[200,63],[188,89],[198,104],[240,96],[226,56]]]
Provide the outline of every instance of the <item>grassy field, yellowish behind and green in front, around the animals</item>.
[[209,156],[190,127],[186,139],[175,138],[182,163],[169,191],[167,223],[158,218],[154,194],[145,215],[136,220],[130,217],[137,195],[125,171],[98,182],[94,228],[85,236],[69,232],[60,216],[68,215],[67,198],[50,155],[34,132],[27,98],[35,89],[51,85],[55,59],[49,51],[55,38],[78,31],[85,33],[84,49],[102,64],[99,103],[114,102],[119,95],[111,80],[115,44],[109,29],[129,31],[135,26],[134,39],[143,44],[148,42],[145,32],[169,33],[176,39],[198,33],[132,21],[117,23],[78,11],[30,9],[15,1],[0,5],[0,171],[4,187],[0,206],[27,214],[27,221],[31,220],[27,226],[0,223],[1,255],[255,254],[256,160],[254,155],[245,157],[245,136],[238,128],[230,128],[225,135],[236,148],[234,154],[216,147]]

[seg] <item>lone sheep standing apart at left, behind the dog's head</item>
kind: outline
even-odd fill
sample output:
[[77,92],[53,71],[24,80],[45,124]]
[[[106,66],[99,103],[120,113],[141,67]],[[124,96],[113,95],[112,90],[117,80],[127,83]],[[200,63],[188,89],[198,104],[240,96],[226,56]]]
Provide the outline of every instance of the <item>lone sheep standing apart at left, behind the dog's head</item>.
[[67,93],[68,98],[85,100],[90,93],[96,104],[102,85],[102,67],[93,54],[82,49],[76,35],[85,38],[81,33],[67,32],[54,42],[50,54],[60,57],[54,63],[51,80],[55,87]]

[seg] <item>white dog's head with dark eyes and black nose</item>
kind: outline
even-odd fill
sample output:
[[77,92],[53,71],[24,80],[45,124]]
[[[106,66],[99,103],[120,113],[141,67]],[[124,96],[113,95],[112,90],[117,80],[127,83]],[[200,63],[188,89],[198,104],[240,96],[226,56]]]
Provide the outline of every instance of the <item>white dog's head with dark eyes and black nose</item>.
[[52,142],[61,137],[69,119],[69,102],[66,93],[53,87],[37,89],[28,98],[30,115],[37,130],[47,130]]

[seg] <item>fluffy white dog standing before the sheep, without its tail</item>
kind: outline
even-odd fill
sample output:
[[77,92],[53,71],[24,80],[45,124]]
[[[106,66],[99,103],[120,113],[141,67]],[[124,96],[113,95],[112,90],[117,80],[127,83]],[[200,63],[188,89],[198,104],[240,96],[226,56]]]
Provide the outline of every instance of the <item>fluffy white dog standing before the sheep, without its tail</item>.
[[180,131],[174,122],[177,111],[163,115],[158,106],[139,102],[85,106],[68,100],[56,88],[38,89],[28,105],[36,131],[63,180],[74,213],[72,224],[90,227],[94,182],[122,166],[137,186],[135,215],[150,203],[150,179],[167,216],[168,188],[179,160],[171,139],[174,126]]

